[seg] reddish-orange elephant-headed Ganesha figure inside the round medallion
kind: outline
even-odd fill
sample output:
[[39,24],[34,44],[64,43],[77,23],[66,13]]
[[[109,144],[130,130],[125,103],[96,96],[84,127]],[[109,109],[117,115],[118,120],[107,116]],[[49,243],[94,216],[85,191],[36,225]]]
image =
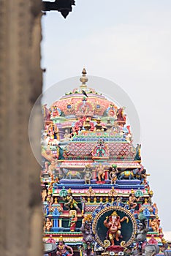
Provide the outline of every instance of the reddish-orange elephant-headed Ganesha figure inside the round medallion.
[[115,245],[115,241],[119,241],[121,236],[121,222],[126,220],[126,223],[129,222],[128,217],[123,217],[120,219],[116,211],[113,211],[113,214],[110,215],[110,217],[106,217],[104,220],[104,226],[108,228],[107,231],[107,238],[109,238],[110,243],[112,246]]

